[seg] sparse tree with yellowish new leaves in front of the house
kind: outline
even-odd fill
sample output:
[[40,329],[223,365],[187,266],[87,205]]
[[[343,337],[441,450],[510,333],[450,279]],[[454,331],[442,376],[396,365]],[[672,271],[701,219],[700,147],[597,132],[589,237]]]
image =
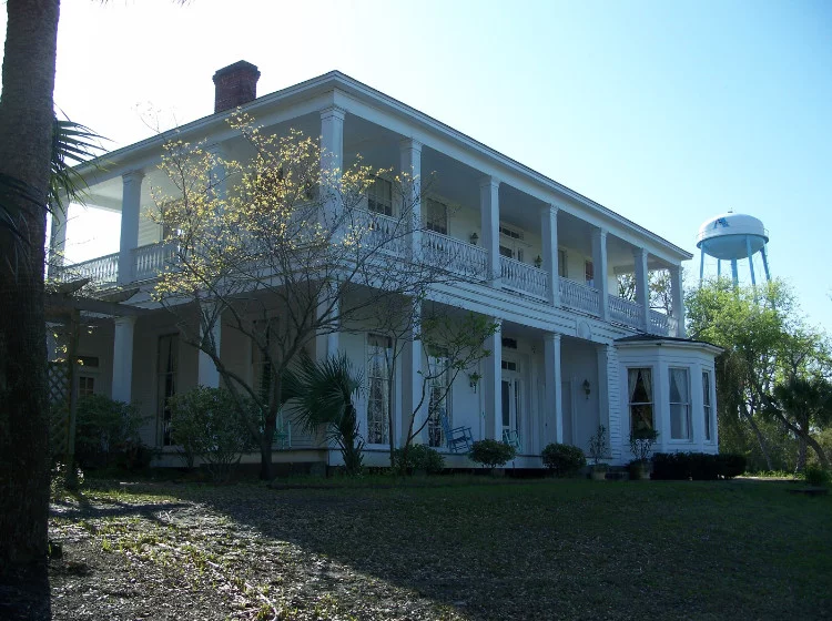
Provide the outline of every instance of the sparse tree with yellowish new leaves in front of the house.
[[[244,115],[232,126],[251,160],[224,160],[201,144],[165,146],[162,170],[176,192],[156,193],[155,217],[173,232],[172,261],[154,295],[183,338],[213,360],[240,410],[252,400],[262,411],[260,426],[248,424],[261,477],[271,478],[292,360],[316,337],[372,319],[386,301],[422,299],[438,284],[477,277],[478,267],[460,273],[451,269],[459,264],[453,248],[414,244],[419,180],[361,162],[337,170],[316,141],[266,134]],[[254,379],[221,357],[221,323],[251,344]]]

